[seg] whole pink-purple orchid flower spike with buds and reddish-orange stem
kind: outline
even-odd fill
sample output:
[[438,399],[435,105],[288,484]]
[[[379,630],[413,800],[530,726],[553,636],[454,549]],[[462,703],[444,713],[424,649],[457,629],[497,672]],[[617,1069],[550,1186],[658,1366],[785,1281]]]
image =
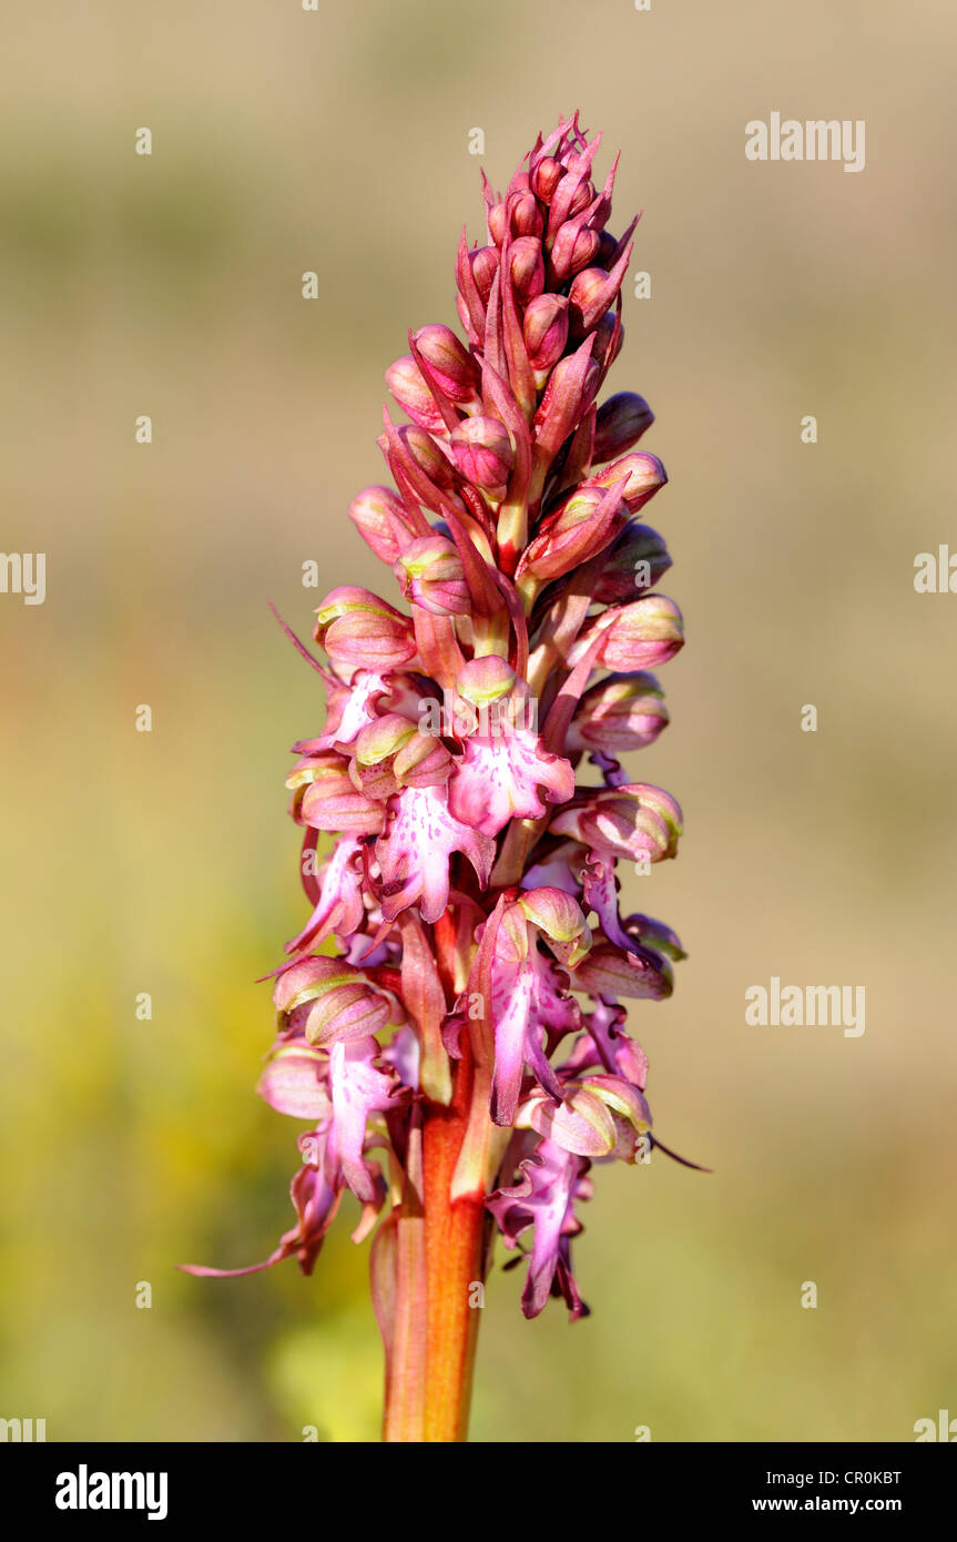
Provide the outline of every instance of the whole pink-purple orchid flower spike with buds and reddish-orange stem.
[[592,1170],[653,1144],[621,1002],[667,996],[683,953],[621,914],[615,870],[673,857],[681,811],[620,757],[667,723],[650,671],[683,629],[644,523],[667,481],[635,449],[652,412],[598,401],[635,228],[609,231],[599,137],[559,122],[504,197],[484,183],[487,241],[462,231],[456,259],[464,339],[419,327],[385,372],[410,421],[384,413],[391,486],[350,515],[405,606],[325,597],[325,728],[288,780],[311,914],[276,970],[259,1092],[311,1129],[296,1224],[253,1269],[310,1274],[354,1195],[388,1440],[464,1439],[496,1234],[527,1260],[527,1317],[550,1295],[587,1311],[572,1240]]

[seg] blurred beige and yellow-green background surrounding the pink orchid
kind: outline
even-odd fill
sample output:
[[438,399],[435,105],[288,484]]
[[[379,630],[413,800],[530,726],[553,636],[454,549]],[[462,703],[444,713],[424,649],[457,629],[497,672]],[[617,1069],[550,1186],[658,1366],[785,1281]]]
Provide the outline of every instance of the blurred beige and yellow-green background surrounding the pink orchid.
[[[496,1268],[473,1437],[911,1440],[957,1411],[957,598],[912,584],[957,550],[952,6],[109,0],[3,29],[0,544],[48,554],[48,597],[0,597],[0,1414],[378,1437],[348,1215],[311,1281],[173,1268],[262,1258],[293,1214],[254,978],[305,916],[282,782],[322,694],[267,598],[308,632],[310,558],[390,592],[345,509],[407,327],[455,321],[468,131],[501,187],[575,106],[603,173],[623,151],[613,225],[644,208],[612,382],[658,415],[689,631],[630,762],[684,845],[626,899],[690,958],[632,1029],[658,1133],[715,1170],[598,1172],[575,1328]],[[866,170],[747,162],[775,109],[865,119]],[[865,1036],[746,1027],[771,975],[863,984]]]

